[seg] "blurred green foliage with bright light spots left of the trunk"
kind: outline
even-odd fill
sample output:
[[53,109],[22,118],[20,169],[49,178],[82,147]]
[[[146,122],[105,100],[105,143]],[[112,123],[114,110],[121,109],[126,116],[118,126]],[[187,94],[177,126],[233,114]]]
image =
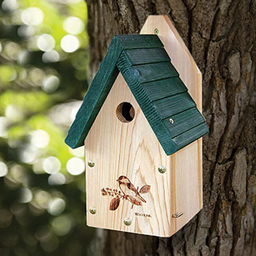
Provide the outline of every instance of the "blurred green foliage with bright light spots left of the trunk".
[[87,90],[83,0],[4,0],[0,255],[86,255],[83,147],[64,138]]

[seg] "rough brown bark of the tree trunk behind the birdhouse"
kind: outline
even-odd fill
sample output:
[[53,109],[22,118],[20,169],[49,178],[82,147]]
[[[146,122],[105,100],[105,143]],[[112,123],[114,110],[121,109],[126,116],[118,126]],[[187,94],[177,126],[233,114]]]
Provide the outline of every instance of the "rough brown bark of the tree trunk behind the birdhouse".
[[256,255],[255,0],[87,0],[91,74],[112,37],[168,14],[203,73],[204,208],[171,238],[97,230],[96,255]]

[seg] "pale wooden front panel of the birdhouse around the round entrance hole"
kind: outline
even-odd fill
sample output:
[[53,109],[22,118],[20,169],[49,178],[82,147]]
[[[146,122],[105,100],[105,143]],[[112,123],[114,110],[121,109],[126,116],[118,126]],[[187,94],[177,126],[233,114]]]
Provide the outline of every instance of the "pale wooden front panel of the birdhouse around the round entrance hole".
[[[131,122],[117,119],[116,109],[122,102],[130,102],[135,109]],[[87,165],[90,160],[95,161],[93,168]],[[87,225],[160,237],[175,233],[175,219],[171,218],[175,200],[171,194],[174,173],[170,156],[166,156],[121,75],[86,137],[85,161]],[[166,173],[159,173],[160,165],[166,166]],[[121,175],[139,191],[150,185],[149,192],[140,194],[146,203],[135,196],[141,205],[132,206],[120,191],[117,179]],[[114,193],[109,193],[110,189]],[[135,195],[130,190],[125,190],[125,194]],[[97,210],[96,214],[90,213],[91,207]],[[125,218],[131,220],[130,226],[124,224]]]

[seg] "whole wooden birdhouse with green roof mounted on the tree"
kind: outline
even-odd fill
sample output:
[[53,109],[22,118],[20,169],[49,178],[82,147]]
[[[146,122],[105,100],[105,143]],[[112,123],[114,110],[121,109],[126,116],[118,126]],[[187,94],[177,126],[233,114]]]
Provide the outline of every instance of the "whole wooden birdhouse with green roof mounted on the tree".
[[167,17],[113,38],[66,137],[85,145],[88,226],[170,237],[198,213],[200,109],[201,73]]

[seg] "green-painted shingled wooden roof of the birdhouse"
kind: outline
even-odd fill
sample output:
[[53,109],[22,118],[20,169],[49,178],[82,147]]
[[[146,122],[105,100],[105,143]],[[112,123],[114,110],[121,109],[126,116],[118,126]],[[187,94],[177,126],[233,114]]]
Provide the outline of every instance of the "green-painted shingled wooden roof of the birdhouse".
[[[156,35],[115,36],[65,139],[82,146],[121,72],[167,155],[208,133],[204,117]],[[173,119],[172,124],[169,119]]]

